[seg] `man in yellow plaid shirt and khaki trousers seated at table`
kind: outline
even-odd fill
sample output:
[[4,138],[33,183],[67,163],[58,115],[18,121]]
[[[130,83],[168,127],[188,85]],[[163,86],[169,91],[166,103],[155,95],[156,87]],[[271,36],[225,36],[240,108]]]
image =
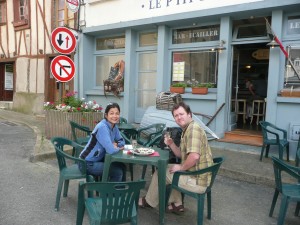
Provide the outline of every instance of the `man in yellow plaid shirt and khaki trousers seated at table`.
[[[174,105],[172,114],[175,122],[182,128],[180,147],[177,147],[172,138],[165,137],[165,144],[174,154],[181,158],[181,164],[169,164],[166,171],[166,183],[171,184],[176,171],[194,171],[213,165],[213,157],[205,131],[192,119],[192,111],[184,102]],[[198,177],[180,176],[179,186],[196,192],[205,192],[211,174],[202,174]],[[146,196],[139,199],[140,207],[156,207],[158,199],[157,171],[153,174]],[[172,190],[167,211],[173,213],[184,212],[181,193]]]

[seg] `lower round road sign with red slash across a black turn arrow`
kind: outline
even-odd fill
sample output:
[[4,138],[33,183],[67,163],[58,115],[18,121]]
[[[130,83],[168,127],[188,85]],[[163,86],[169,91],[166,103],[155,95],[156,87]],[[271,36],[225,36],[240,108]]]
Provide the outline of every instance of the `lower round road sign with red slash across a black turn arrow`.
[[56,80],[68,82],[75,75],[75,64],[68,56],[56,56],[51,62],[51,72]]

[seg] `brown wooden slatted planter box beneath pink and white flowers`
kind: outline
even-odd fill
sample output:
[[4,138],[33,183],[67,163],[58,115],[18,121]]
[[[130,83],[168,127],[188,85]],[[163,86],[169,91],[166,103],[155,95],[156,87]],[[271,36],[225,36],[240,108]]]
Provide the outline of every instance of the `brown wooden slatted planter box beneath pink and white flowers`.
[[[71,126],[72,120],[80,125],[94,129],[96,123],[103,119],[102,112],[62,112],[58,110],[46,110],[46,138],[55,136],[65,137],[72,140]],[[84,133],[78,133],[78,137],[84,137]]]

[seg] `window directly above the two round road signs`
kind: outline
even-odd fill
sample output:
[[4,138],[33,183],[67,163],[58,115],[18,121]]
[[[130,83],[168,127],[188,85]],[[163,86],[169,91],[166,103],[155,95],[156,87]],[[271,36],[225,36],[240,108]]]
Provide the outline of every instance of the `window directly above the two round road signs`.
[[65,0],[54,0],[53,1],[53,29],[56,27],[69,27],[76,28],[76,16],[77,13],[70,11],[65,3]]

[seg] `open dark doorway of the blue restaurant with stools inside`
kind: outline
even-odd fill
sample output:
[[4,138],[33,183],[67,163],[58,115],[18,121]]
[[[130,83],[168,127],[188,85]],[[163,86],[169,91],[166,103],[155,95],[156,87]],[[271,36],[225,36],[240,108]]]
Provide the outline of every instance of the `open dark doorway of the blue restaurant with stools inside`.
[[233,56],[231,130],[260,132],[258,121],[264,120],[267,98],[269,48],[266,43],[234,45]]

